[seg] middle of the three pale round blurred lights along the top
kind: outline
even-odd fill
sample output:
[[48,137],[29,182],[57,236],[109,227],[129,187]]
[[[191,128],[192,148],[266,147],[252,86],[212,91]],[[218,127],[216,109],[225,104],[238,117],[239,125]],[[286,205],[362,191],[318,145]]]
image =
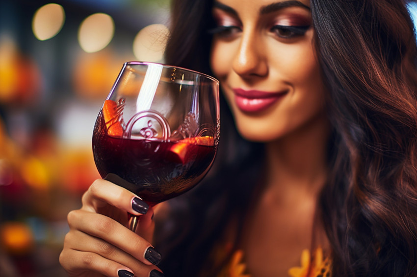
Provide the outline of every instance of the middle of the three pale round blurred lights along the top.
[[80,24],[78,43],[87,53],[100,51],[107,46],[114,35],[114,21],[104,13],[92,14]]

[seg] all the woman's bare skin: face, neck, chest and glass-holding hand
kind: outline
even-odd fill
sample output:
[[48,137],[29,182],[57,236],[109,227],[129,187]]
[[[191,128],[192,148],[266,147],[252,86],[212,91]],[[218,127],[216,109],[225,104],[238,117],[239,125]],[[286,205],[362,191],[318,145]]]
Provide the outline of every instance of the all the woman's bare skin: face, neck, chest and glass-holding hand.
[[[319,234],[316,243],[327,247],[313,220],[326,179],[329,135],[314,29],[292,36],[274,27],[310,25],[310,3],[292,1],[286,8],[261,12],[279,2],[283,1],[221,0],[213,8],[217,24],[229,27],[214,34],[211,68],[240,134],[266,146],[266,184],[247,216],[240,244],[247,268],[256,277],[287,276],[291,266],[299,266],[302,250],[312,246],[313,227]],[[283,96],[267,109],[247,113],[235,103],[236,88]],[[68,215],[70,231],[60,262],[70,276],[116,277],[118,270],[126,269],[147,277],[157,269],[143,257],[152,241],[153,210],[142,216],[136,233],[124,227],[126,212],[137,214],[131,208],[133,197],[104,180],[90,186],[82,208]]]

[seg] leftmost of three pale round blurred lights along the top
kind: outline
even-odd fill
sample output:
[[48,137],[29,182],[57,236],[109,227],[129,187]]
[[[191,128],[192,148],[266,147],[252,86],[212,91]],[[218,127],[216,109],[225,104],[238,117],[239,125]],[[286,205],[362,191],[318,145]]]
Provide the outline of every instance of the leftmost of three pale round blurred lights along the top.
[[61,5],[50,3],[40,7],[33,15],[32,30],[38,40],[53,38],[64,25],[65,12]]

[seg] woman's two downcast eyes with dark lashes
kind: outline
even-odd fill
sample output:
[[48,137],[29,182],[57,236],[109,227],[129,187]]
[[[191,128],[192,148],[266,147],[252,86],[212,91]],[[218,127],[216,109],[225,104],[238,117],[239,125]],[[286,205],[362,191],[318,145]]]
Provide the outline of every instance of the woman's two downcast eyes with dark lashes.
[[[286,26],[286,25],[275,25],[270,31],[275,33],[278,37],[284,39],[291,39],[304,35],[310,25],[305,26]],[[209,30],[209,34],[217,34],[221,37],[229,37],[235,34],[236,31],[241,31],[240,27],[237,26],[217,26]]]

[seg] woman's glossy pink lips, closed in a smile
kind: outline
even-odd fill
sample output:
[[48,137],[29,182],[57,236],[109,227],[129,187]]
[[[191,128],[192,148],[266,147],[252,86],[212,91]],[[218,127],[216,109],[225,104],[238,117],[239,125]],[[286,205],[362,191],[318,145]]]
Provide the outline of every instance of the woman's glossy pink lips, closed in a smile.
[[234,89],[235,103],[237,107],[246,113],[261,112],[279,99],[287,92],[262,92],[262,91],[246,91],[243,89]]

